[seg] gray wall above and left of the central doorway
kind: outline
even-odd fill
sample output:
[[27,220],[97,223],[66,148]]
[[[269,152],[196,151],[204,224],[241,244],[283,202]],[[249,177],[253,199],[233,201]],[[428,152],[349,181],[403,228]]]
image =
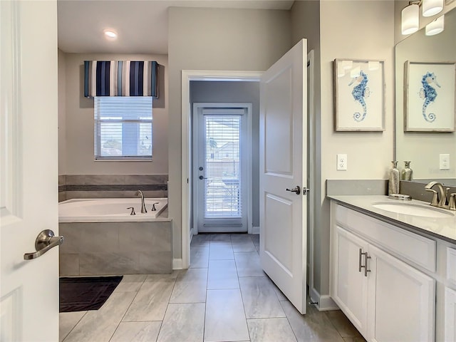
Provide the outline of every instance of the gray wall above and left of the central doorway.
[[182,257],[181,72],[264,71],[291,47],[290,11],[170,8],[169,175],[174,257]]

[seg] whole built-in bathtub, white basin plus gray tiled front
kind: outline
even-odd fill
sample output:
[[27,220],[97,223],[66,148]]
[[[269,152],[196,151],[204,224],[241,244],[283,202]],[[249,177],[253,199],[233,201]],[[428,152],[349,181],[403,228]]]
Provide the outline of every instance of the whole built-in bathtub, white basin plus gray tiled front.
[[[158,203],[157,203],[158,202]],[[150,210],[155,204],[156,211]],[[61,276],[169,274],[172,220],[167,198],[68,199],[58,204]],[[134,207],[136,215],[130,215]]]

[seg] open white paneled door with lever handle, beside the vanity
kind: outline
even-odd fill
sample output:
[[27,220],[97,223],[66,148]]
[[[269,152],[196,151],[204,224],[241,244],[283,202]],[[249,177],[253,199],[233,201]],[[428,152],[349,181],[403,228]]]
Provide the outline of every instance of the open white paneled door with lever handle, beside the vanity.
[[[306,313],[307,41],[299,41],[261,77],[261,266]],[[294,190],[294,191],[290,191]]]

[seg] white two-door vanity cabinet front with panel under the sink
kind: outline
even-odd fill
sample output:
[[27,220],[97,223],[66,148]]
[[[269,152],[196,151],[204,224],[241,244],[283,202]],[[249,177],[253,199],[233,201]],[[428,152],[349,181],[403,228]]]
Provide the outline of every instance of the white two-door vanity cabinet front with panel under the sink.
[[331,297],[367,341],[435,340],[435,280],[413,264],[435,271],[435,242],[331,203]]

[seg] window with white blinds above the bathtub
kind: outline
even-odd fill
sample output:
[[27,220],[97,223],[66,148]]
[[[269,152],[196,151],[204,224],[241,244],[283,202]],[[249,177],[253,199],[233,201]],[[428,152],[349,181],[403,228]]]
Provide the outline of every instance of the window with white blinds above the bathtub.
[[152,160],[152,97],[95,97],[95,160]]

